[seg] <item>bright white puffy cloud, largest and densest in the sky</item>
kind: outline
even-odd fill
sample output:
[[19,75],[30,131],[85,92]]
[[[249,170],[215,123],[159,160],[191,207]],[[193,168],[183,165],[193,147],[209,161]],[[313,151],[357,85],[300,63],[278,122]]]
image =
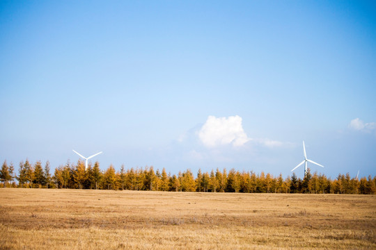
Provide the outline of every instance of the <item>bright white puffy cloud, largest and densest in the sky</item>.
[[242,117],[238,115],[228,118],[217,118],[210,115],[198,131],[198,138],[206,147],[218,147],[226,144],[240,147],[251,140],[242,127]]

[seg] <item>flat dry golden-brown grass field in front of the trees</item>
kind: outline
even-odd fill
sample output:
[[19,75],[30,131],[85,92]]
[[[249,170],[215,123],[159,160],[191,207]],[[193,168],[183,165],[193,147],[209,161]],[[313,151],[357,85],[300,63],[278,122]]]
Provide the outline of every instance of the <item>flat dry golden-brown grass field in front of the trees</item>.
[[376,249],[376,197],[0,189],[0,249]]

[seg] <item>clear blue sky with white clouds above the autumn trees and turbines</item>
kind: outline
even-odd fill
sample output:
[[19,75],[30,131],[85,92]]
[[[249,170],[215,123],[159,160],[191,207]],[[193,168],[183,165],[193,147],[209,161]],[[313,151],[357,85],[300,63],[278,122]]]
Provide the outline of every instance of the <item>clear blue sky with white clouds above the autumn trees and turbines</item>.
[[374,1],[0,1],[0,55],[0,161],[376,174]]

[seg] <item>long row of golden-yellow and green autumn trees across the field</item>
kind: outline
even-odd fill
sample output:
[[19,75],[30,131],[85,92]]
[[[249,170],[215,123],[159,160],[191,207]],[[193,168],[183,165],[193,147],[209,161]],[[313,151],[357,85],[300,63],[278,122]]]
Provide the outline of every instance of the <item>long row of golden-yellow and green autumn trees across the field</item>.
[[303,179],[295,173],[283,178],[253,171],[239,172],[235,169],[212,169],[211,172],[198,170],[196,177],[187,169],[171,175],[166,169],[136,167],[116,171],[110,165],[105,171],[100,164],[88,165],[82,160],[77,165],[66,163],[56,167],[50,174],[49,162],[43,166],[29,160],[19,163],[18,174],[13,163],[6,160],[0,170],[0,187],[3,188],[72,188],[95,190],[155,190],[173,192],[246,192],[246,193],[312,193],[312,194],[376,194],[376,176],[351,178],[350,174],[338,174],[334,180],[324,174],[311,174],[308,169]]

